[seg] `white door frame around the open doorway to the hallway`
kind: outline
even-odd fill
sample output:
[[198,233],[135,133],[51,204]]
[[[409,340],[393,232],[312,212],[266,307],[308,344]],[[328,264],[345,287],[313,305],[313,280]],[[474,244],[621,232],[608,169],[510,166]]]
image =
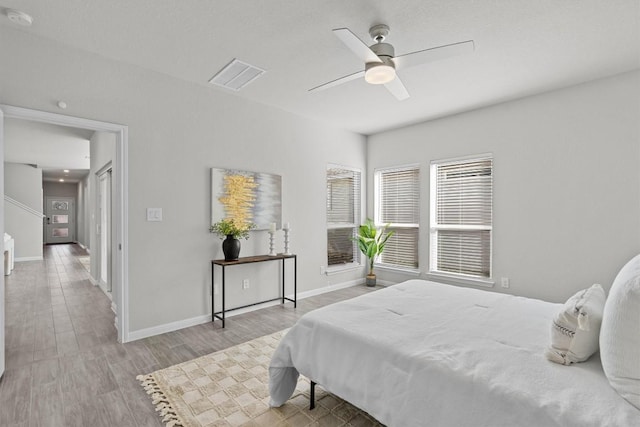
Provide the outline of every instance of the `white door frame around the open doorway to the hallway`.
[[[118,341],[129,341],[129,206],[128,206],[128,134],[129,128],[116,123],[101,122],[80,117],[65,116],[46,111],[0,104],[0,113],[4,118],[31,120],[61,126],[71,126],[100,132],[111,132],[116,137],[116,156],[112,173],[112,274],[113,304],[116,306],[115,326]],[[0,129],[4,124],[0,114]],[[4,142],[0,151],[4,153]],[[4,162],[0,162],[0,175],[4,176]],[[2,187],[4,196],[4,186]],[[2,198],[4,200],[4,197]],[[3,203],[3,202],[2,202]],[[3,226],[4,227],[4,226]],[[4,311],[4,306],[3,306]]]

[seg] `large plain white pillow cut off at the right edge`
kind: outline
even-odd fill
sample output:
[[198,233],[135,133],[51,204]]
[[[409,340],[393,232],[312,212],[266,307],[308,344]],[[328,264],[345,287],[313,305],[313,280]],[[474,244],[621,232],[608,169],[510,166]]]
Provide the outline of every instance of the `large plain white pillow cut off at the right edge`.
[[640,409],[640,255],[622,267],[611,285],[600,358],[611,386]]

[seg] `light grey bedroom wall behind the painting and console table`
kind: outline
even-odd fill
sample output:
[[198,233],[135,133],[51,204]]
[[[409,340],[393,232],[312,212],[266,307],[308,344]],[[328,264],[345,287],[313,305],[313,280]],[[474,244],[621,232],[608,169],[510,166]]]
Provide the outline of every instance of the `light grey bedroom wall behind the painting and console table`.
[[[11,40],[0,54],[12,58],[0,68],[0,81],[11,82],[1,103],[56,111],[52,97],[59,97],[68,104],[65,114],[128,126],[131,331],[210,312],[210,260],[223,256],[208,232],[211,167],[282,175],[300,292],[362,277],[354,271],[328,278],[320,266],[326,165],[364,170],[363,136],[249,102],[205,80],[182,82],[6,26],[0,38]],[[163,208],[164,220],[147,222],[147,207]],[[268,250],[264,232],[242,244],[243,256]],[[252,277],[271,283],[266,274]]]

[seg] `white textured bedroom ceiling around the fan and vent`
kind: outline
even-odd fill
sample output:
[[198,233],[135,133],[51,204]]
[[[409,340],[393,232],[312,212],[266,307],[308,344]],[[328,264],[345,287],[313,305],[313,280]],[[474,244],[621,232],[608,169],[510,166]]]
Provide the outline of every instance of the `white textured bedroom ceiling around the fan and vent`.
[[[267,73],[235,93],[363,134],[640,68],[638,0],[0,0],[31,14],[28,31],[221,90],[233,58]],[[0,25],[13,25],[4,18]],[[399,74],[411,97],[354,80],[362,68],[331,32],[368,42],[391,27],[396,54],[474,40],[473,54]]]

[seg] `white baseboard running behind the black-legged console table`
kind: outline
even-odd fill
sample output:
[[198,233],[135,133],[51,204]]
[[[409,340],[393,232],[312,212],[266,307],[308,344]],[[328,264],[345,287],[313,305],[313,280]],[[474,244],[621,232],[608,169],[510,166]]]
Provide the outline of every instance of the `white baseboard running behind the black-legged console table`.
[[[327,292],[337,291],[339,289],[350,288],[351,286],[361,285],[364,283],[364,279],[350,280],[348,282],[338,283],[335,285],[329,285],[318,289],[312,289],[310,291],[301,292],[298,294],[298,300],[313,297],[316,295],[324,294]],[[293,298],[293,295],[287,295],[289,298]],[[262,308],[273,307],[274,305],[281,304],[280,301],[270,301],[262,304],[253,305],[251,307],[240,308],[225,313],[225,317],[238,316],[240,314],[249,313],[251,311],[260,310]],[[287,302],[286,304],[290,304]],[[152,326],[150,328],[139,329],[137,331],[129,332],[127,342],[140,340],[143,338],[152,337],[155,335],[166,334],[167,332],[177,331],[179,329],[189,328],[191,326],[202,325],[204,323],[211,322],[211,313],[201,316],[192,317],[190,319],[178,320],[176,322],[165,323],[163,325]]]

